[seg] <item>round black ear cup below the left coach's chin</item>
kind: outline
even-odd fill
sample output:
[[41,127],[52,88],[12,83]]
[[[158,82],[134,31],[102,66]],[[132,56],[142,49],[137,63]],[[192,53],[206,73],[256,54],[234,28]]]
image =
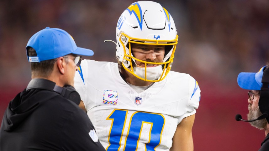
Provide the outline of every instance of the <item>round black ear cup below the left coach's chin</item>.
[[76,89],[72,87],[71,85],[64,86],[64,90],[62,91],[62,96],[64,98],[67,98],[77,105],[80,103],[80,95],[76,92]]

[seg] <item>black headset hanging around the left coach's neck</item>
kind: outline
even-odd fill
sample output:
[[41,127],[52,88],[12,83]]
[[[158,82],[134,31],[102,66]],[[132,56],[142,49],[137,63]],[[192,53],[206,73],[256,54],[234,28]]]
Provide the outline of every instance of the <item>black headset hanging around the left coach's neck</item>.
[[35,78],[29,82],[26,91],[33,88],[55,91],[61,94],[64,98],[73,101],[77,105],[80,103],[80,95],[71,85],[65,85],[64,87],[60,87],[50,80]]

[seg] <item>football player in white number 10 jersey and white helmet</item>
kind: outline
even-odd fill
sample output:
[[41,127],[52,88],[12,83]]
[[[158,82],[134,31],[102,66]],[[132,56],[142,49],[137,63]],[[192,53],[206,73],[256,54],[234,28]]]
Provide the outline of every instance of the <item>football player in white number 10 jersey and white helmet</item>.
[[82,61],[80,106],[107,150],[193,150],[200,88],[189,74],[170,71],[177,38],[165,8],[139,1],[117,23],[119,62]]

